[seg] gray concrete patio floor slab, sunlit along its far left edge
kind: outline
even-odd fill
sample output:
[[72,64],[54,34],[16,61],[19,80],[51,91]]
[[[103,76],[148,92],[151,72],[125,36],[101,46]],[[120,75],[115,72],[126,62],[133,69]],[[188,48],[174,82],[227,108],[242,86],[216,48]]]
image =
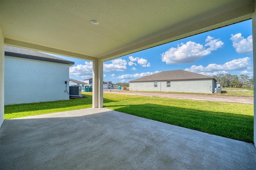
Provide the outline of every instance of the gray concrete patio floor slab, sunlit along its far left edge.
[[5,120],[0,169],[256,169],[253,144],[109,109]]

